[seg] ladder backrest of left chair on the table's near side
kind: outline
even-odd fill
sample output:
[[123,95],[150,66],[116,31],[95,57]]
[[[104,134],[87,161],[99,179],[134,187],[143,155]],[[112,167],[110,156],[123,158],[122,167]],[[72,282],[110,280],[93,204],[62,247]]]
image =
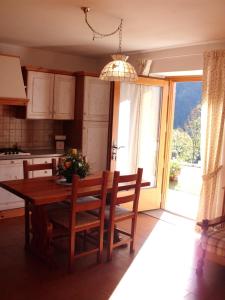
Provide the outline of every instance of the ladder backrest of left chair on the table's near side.
[[[104,221],[108,177],[108,171],[104,171],[102,176],[98,178],[80,179],[77,175],[73,176],[70,220],[72,226],[76,224],[76,213],[88,210],[99,209],[99,219]],[[87,190],[88,188],[89,191],[95,191],[96,187],[99,190],[98,197],[78,198],[79,189],[85,188]]]

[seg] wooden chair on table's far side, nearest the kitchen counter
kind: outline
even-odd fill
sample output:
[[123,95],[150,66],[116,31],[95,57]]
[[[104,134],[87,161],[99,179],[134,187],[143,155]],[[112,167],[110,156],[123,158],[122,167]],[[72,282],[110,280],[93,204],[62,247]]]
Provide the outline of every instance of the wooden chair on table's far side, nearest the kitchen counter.
[[[43,164],[28,164],[27,160],[23,161],[23,177],[24,179],[30,178],[30,172],[38,170],[52,170],[52,175],[56,175],[56,160],[53,158],[51,163]],[[30,212],[31,205],[25,201],[25,248],[30,247]],[[35,222],[34,222],[35,223]]]

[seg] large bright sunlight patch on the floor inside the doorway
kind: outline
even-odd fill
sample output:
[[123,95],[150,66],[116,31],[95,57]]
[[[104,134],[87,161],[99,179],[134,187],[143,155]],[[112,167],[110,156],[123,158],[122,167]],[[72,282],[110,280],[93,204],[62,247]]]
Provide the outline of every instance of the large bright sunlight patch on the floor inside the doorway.
[[183,299],[199,235],[159,221],[110,299]]

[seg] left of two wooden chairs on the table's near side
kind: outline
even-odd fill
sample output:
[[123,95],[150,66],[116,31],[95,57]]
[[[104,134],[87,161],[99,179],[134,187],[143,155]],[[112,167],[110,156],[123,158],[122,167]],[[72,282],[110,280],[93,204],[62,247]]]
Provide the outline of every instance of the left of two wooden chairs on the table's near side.
[[[49,219],[53,223],[53,243],[57,239],[57,230],[60,235],[62,231],[69,235],[69,271],[72,270],[75,259],[97,252],[97,261],[102,262],[103,253],[103,235],[104,235],[104,211],[107,193],[108,172],[103,172],[101,177],[81,180],[77,175],[73,176],[72,197],[70,207],[64,207],[61,211],[52,211]],[[77,197],[78,189],[93,188],[101,186],[100,198],[95,197]],[[98,216],[93,216],[88,211],[98,209]],[[98,242],[94,249],[83,249],[81,253],[76,253],[76,235],[85,233],[88,230],[98,229]]]

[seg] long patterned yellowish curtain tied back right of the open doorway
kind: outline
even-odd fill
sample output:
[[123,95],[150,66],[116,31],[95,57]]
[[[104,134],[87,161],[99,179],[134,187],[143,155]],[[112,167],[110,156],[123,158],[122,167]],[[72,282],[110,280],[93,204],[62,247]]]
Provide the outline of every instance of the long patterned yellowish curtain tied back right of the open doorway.
[[204,53],[202,94],[203,184],[198,219],[222,214],[225,118],[225,50]]

